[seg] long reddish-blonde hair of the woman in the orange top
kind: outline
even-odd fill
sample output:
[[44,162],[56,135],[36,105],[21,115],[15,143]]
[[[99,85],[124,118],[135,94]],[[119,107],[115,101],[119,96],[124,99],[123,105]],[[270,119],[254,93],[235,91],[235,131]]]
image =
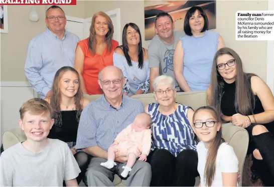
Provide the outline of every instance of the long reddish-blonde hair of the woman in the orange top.
[[95,24],[95,19],[96,19],[96,17],[98,17],[98,15],[105,17],[107,20],[108,32],[105,35],[105,42],[107,45],[108,52],[110,52],[111,48],[112,48],[111,40],[112,40],[113,33],[114,33],[114,27],[112,24],[112,20],[105,12],[99,11],[92,16],[91,25],[89,28],[88,48],[89,48],[90,52],[92,53],[92,55],[94,55],[95,51],[96,51],[97,40],[96,40],[96,31],[94,29],[94,24]]

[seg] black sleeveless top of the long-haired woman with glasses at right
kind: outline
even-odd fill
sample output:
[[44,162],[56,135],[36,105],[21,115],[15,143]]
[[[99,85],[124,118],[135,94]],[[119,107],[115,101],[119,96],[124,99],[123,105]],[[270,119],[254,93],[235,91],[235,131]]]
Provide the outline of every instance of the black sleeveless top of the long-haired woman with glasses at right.
[[[251,81],[250,78],[251,77],[248,78],[249,82]],[[233,83],[227,83],[224,81],[223,95],[221,98],[221,112],[226,116],[232,116],[235,113],[239,113],[238,111],[236,111],[236,107],[234,105],[235,94],[236,94],[236,81],[234,81]],[[257,95],[254,95],[254,99],[255,101],[253,100],[251,101],[253,114],[264,112],[264,109],[262,107],[259,97]],[[248,115],[252,115],[252,112],[248,113]],[[264,125],[269,131],[273,131],[274,129],[274,121],[269,123],[264,123],[262,125]]]

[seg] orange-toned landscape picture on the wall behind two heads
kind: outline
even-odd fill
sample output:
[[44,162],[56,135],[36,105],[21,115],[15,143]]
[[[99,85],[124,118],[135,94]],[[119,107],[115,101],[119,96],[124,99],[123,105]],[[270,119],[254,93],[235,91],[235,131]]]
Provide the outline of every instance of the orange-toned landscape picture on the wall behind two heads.
[[154,20],[158,13],[168,12],[175,23],[175,31],[184,30],[187,10],[192,6],[201,6],[205,11],[209,29],[216,28],[216,0],[145,0],[145,40],[155,35]]

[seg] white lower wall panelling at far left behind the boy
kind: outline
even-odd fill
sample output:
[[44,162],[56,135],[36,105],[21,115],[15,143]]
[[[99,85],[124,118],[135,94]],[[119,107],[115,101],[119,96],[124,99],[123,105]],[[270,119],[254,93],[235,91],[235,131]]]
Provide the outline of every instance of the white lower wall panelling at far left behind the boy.
[[19,109],[30,98],[38,97],[28,81],[1,81],[0,83],[1,140],[3,132],[19,126]]

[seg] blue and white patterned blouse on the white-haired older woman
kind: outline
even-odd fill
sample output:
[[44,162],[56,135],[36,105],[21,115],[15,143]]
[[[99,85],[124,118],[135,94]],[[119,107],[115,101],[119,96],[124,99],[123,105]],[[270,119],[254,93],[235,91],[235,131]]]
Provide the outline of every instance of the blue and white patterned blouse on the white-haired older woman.
[[152,117],[152,150],[164,148],[177,156],[184,149],[196,150],[194,132],[187,118],[190,106],[178,105],[170,115],[159,111],[159,103],[149,104],[149,114]]

